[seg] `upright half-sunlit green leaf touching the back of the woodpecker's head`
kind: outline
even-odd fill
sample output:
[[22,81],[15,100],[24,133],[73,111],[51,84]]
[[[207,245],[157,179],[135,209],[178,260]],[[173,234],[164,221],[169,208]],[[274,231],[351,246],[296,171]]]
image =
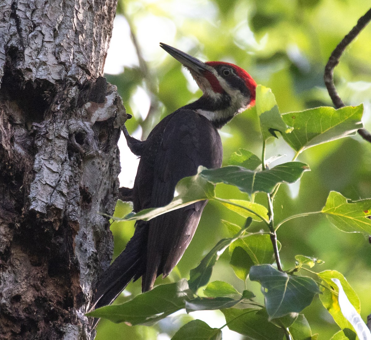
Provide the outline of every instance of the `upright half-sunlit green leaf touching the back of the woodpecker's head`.
[[260,119],[260,129],[263,139],[277,137],[275,131],[281,134],[292,131],[279,112],[275,95],[268,87],[258,85],[256,87],[256,112]]

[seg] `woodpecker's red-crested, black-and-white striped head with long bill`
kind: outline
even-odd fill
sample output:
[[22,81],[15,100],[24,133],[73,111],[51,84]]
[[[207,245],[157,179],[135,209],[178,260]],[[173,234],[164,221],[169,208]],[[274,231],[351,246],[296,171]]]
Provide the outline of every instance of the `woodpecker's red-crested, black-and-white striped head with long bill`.
[[160,46],[190,71],[203,92],[200,99],[186,108],[206,116],[217,128],[255,105],[256,82],[242,68],[228,62],[202,62],[169,45]]

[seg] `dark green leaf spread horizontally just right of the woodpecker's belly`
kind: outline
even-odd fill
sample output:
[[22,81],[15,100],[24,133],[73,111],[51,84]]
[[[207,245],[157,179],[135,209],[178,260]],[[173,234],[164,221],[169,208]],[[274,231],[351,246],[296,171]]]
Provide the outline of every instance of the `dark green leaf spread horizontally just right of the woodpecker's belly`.
[[259,172],[238,166],[226,166],[203,170],[200,175],[211,183],[234,185],[251,195],[255,192],[271,193],[278,183],[295,183],[304,171],[309,170],[309,166],[304,163],[289,162]]

